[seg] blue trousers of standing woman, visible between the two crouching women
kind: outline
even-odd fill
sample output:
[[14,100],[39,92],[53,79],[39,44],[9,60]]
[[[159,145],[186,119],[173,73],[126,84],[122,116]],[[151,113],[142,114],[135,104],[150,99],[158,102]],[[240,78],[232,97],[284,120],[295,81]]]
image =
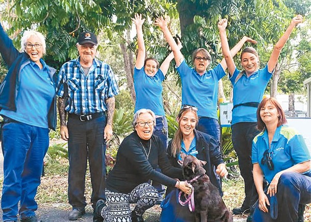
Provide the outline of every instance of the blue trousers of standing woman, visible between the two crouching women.
[[[156,118],[156,126],[154,128],[153,135],[160,137],[163,146],[165,146],[165,148],[168,147],[169,127],[168,127],[168,121],[166,120],[165,116],[160,116]],[[156,170],[158,172],[161,172],[161,169],[159,168],[159,166],[156,168]],[[164,185],[153,181],[152,186],[157,189],[159,196],[164,195],[165,193]]]

